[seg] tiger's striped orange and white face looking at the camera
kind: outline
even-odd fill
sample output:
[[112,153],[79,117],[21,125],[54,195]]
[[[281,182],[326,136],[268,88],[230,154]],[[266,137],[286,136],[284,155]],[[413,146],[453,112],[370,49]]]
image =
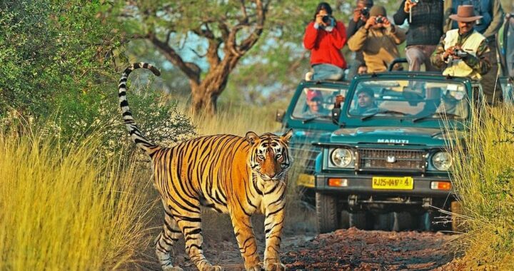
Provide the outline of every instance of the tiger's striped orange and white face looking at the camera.
[[282,136],[273,133],[264,133],[262,136],[253,132],[246,133],[246,140],[251,145],[248,164],[252,172],[264,181],[283,180],[292,162],[288,148],[291,136],[293,130]]

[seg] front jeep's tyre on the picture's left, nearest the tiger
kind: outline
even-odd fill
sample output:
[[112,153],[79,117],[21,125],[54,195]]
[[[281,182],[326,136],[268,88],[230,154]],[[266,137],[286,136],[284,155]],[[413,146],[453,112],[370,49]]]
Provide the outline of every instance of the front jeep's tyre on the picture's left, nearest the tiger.
[[319,233],[337,230],[339,214],[336,197],[316,192],[316,216],[318,217]]

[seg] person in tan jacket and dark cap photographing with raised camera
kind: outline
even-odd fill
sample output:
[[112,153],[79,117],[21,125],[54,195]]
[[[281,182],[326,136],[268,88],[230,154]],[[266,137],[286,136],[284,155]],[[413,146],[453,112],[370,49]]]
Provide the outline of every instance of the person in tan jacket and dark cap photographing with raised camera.
[[388,64],[400,56],[396,45],[403,41],[405,30],[390,23],[383,6],[373,6],[366,24],[348,39],[348,47],[363,51],[368,73],[374,73],[386,71]]

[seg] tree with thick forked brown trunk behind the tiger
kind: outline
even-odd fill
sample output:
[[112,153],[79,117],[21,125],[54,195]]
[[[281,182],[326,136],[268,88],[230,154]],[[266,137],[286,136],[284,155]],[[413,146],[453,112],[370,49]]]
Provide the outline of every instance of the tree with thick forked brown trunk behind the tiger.
[[[151,41],[188,77],[193,113],[212,114],[231,71],[261,37],[270,3],[271,0],[131,1],[121,15],[141,19],[143,25],[134,36]],[[202,40],[190,46],[206,48],[181,52],[171,44],[172,39],[186,42],[192,35]],[[205,58],[207,67],[186,61],[191,54]],[[203,69],[207,71],[203,73]]]

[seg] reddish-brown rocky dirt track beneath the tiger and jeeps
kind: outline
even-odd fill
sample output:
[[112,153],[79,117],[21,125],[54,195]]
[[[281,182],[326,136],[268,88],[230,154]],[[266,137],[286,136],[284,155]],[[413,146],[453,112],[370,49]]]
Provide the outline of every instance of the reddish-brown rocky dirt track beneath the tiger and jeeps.
[[[264,240],[258,235],[259,250]],[[453,260],[451,240],[455,235],[440,232],[384,232],[351,228],[323,235],[283,237],[282,261],[288,270],[450,270],[443,267]],[[183,252],[175,247],[175,262],[184,270],[196,270]],[[236,240],[205,240],[204,252],[213,264],[225,270],[243,270]],[[150,260],[150,259],[148,259]],[[155,268],[155,269],[154,269]],[[159,270],[158,265],[143,268]]]

